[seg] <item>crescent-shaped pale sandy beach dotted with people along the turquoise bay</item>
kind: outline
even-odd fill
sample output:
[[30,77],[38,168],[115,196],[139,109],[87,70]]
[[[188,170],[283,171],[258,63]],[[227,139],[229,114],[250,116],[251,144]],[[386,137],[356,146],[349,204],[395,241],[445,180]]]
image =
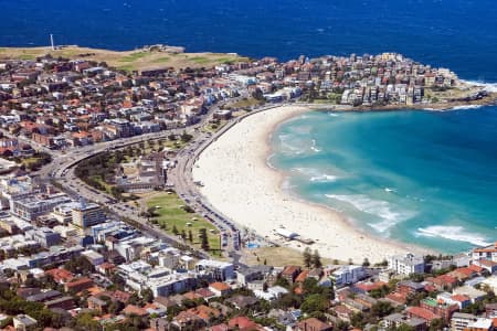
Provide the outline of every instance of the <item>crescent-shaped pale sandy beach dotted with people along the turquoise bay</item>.
[[383,260],[394,254],[427,253],[415,246],[369,236],[352,227],[346,215],[303,202],[282,189],[284,177],[266,163],[271,132],[285,119],[309,111],[283,106],[244,118],[209,146],[193,167],[202,195],[235,223],[268,236],[283,246],[304,250],[306,245],[283,241],[275,229],[284,227],[315,241],[309,247],[321,256],[362,263]]

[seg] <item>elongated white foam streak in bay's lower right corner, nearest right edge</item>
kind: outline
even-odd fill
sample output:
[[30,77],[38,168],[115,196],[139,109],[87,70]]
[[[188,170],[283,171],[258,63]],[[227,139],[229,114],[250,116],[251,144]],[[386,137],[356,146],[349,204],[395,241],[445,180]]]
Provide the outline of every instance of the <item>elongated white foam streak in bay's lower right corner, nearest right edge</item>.
[[465,242],[476,246],[490,245],[488,238],[478,233],[470,233],[463,226],[433,225],[427,227],[419,227],[415,235],[423,237],[440,237],[455,242]]

